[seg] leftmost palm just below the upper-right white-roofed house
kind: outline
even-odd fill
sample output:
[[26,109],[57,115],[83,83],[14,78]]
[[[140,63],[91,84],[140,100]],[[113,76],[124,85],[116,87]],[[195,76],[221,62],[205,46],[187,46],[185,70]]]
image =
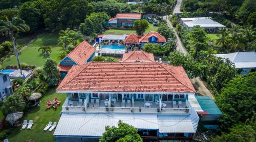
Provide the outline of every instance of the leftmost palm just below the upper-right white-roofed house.
[[220,34],[218,34],[217,37],[219,38],[216,40],[216,44],[219,47],[223,47],[223,49],[225,50],[225,47],[227,47],[228,45],[228,38],[229,38],[229,33],[227,29],[221,29]]

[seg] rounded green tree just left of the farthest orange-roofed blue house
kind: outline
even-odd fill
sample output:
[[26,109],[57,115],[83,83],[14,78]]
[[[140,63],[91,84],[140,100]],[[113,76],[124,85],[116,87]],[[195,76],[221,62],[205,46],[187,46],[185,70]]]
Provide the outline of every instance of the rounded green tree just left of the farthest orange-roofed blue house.
[[96,34],[102,34],[105,21],[109,19],[108,14],[105,12],[91,13],[84,22],[80,24],[80,31],[82,34],[92,36]]

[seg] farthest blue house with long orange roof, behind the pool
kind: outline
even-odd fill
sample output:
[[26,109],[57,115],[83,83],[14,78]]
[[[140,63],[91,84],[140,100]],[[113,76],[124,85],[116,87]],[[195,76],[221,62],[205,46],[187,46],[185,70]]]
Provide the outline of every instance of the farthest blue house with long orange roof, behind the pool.
[[109,26],[131,28],[135,20],[140,20],[140,13],[117,13],[116,17],[111,18],[106,23]]

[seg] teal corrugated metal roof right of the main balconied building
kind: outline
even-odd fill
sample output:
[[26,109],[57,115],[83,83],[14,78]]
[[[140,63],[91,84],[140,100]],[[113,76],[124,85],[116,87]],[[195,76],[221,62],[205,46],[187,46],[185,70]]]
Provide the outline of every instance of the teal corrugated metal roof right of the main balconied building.
[[216,105],[214,100],[209,96],[195,96],[198,103],[204,111],[208,111],[209,115],[221,115],[222,112],[219,107]]

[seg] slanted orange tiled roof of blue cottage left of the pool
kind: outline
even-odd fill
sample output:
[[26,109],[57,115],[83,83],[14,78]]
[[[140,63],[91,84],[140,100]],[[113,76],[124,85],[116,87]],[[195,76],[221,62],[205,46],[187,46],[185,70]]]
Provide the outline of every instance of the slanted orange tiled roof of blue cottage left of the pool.
[[78,65],[82,65],[86,63],[86,61],[91,57],[94,51],[95,48],[93,48],[91,44],[89,44],[87,41],[83,41],[67,56]]

